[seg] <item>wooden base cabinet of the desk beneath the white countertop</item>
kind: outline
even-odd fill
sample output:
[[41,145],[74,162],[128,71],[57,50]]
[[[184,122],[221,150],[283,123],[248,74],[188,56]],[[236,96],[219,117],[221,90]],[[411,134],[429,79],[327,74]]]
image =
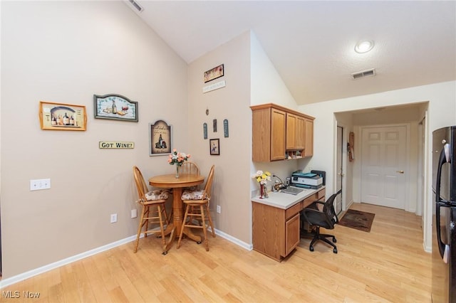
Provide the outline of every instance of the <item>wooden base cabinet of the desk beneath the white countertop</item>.
[[[284,193],[286,195],[286,193]],[[290,208],[283,209],[252,201],[252,242],[254,250],[276,261],[289,255],[301,240],[300,211],[314,201],[324,201],[325,188]]]

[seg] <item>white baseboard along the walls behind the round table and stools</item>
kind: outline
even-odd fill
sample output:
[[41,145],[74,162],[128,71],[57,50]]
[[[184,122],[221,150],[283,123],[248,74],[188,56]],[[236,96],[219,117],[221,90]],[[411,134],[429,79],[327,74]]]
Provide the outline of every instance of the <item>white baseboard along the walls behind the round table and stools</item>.
[[[209,228],[209,230],[210,230],[210,228]],[[239,240],[237,238],[234,238],[231,235],[228,235],[227,233],[223,233],[222,231],[217,230],[217,228],[215,229],[215,234],[219,235],[220,237],[222,237],[222,238],[224,238],[226,240],[229,240],[229,242],[232,242],[232,243],[234,243],[236,245],[239,245],[240,247],[242,247],[242,248],[244,248],[246,250],[252,250],[253,249],[253,245],[252,244],[248,244],[248,243],[242,242],[241,240]],[[142,237],[143,237],[143,235],[141,235],[141,238]],[[118,240],[118,241],[115,241],[113,243],[109,243],[107,245],[100,246],[99,248],[94,248],[93,250],[88,250],[86,252],[81,252],[78,255],[73,255],[73,257],[67,257],[66,259],[63,259],[63,260],[60,260],[60,261],[57,261],[57,262],[53,262],[51,264],[44,265],[42,267],[38,267],[38,268],[36,268],[34,270],[29,270],[28,272],[23,272],[23,273],[21,273],[19,275],[15,275],[13,277],[2,279],[2,280],[0,280],[0,289],[3,288],[3,287],[7,287],[9,285],[13,285],[13,284],[15,284],[17,282],[24,281],[24,280],[26,280],[28,278],[31,278],[31,277],[34,277],[36,275],[40,275],[40,274],[42,274],[44,272],[48,272],[49,270],[54,270],[54,269],[56,269],[58,267],[61,267],[63,265],[67,265],[67,264],[70,264],[72,262],[76,262],[76,261],[84,259],[86,257],[90,257],[91,255],[96,255],[96,254],[98,254],[100,252],[104,252],[106,250],[110,250],[110,249],[118,247],[120,245],[132,242],[135,239],[136,239],[136,235],[131,235],[128,238],[125,238],[125,239],[122,239],[122,240]]]

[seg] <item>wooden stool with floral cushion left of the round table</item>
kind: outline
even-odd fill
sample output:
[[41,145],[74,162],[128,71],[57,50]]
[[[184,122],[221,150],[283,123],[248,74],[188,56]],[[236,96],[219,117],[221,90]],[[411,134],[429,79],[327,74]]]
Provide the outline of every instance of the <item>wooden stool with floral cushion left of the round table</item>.
[[[165,203],[168,196],[170,196],[170,191],[160,189],[148,191],[144,177],[137,166],[133,166],[133,176],[135,178],[136,188],[138,189],[138,203],[142,205],[141,218],[138,225],[138,234],[136,235],[135,249],[133,252],[138,251],[141,233],[144,234],[144,237],[147,237],[148,234],[155,234],[161,236],[163,250],[162,255],[166,255],[167,251],[170,249],[172,240],[174,240],[174,229],[171,231],[169,242],[167,243],[165,240],[164,225],[169,225],[170,223],[170,216],[167,215]],[[154,223],[160,225],[160,229],[149,229],[149,224]],[[144,227],[145,229],[142,230]]]

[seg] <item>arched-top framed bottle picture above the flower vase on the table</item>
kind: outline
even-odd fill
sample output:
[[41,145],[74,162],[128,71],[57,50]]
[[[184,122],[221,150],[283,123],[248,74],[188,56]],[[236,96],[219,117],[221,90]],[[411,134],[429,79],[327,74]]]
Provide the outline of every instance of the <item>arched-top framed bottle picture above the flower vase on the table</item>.
[[172,129],[163,120],[149,124],[149,156],[171,154]]

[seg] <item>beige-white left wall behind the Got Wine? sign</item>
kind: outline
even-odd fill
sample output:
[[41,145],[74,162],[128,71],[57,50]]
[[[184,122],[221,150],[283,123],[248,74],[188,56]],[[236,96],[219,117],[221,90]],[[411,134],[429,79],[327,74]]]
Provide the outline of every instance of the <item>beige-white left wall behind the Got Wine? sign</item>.
[[[139,122],[94,119],[108,93],[138,101]],[[41,130],[41,100],[86,106],[86,132]],[[186,63],[121,1],[1,1],[3,278],[135,235],[132,166],[173,171],[149,156],[148,124],[172,124],[187,150],[187,110]],[[29,191],[43,178],[51,189]]]

